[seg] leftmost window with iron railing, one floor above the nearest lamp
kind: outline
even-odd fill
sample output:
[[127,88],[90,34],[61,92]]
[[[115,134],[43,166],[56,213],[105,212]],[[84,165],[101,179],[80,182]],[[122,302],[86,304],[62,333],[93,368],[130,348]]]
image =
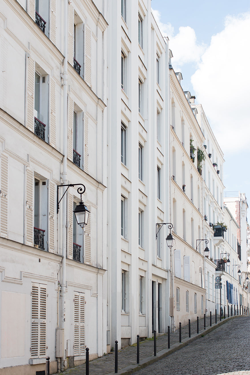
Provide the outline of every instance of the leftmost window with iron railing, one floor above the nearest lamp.
[[[39,70],[39,72],[38,72]],[[37,66],[35,72],[34,133],[48,142],[49,76]]]

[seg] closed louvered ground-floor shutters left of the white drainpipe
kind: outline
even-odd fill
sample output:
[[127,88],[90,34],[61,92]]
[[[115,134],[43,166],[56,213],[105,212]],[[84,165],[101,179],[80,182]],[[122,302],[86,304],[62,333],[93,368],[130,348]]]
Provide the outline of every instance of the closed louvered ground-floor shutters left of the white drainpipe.
[[47,286],[32,283],[31,291],[31,358],[46,357]]

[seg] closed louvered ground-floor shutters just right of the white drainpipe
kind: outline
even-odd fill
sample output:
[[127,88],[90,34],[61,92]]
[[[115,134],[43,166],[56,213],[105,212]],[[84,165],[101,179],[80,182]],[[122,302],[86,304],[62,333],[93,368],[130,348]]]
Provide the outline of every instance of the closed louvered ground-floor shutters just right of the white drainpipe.
[[74,293],[74,356],[85,355],[85,296]]

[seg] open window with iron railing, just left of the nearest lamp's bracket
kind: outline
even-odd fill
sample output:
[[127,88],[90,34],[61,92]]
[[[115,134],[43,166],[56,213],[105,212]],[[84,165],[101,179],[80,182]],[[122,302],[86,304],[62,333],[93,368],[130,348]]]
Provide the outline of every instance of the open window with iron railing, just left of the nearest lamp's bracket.
[[34,246],[47,250],[48,180],[34,178]]

